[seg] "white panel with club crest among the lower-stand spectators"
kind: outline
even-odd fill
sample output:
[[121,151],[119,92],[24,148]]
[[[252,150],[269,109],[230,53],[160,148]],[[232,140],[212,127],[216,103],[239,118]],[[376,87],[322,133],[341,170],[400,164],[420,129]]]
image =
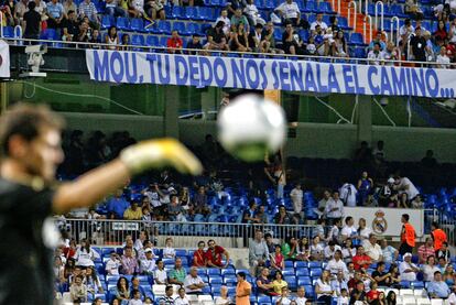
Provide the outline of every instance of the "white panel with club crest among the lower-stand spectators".
[[404,208],[344,207],[345,216],[351,216],[358,225],[359,218],[379,236],[400,236],[402,214],[409,214],[409,222],[415,228],[416,237],[424,235],[424,210]]

